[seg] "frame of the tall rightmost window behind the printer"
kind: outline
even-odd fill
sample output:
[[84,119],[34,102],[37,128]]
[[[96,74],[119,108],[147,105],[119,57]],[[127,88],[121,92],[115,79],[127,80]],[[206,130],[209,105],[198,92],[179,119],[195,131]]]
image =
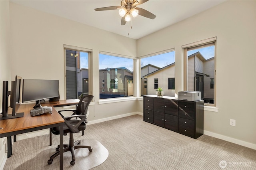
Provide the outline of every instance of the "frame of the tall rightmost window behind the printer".
[[[198,42],[189,43],[186,45],[182,45],[182,49],[184,50],[184,90],[186,91],[188,88],[188,51],[193,49],[198,49],[200,47],[207,47],[214,45],[214,80],[216,80],[216,49],[217,49],[217,37],[208,38],[205,40],[201,40]],[[214,81],[214,104],[208,104],[208,106],[216,107],[216,81]]]

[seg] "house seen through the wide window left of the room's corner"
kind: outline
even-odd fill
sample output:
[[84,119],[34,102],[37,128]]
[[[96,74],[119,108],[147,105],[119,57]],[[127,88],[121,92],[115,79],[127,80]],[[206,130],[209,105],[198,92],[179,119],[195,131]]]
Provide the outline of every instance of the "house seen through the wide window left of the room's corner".
[[100,69],[100,99],[133,96],[133,72],[126,67]]

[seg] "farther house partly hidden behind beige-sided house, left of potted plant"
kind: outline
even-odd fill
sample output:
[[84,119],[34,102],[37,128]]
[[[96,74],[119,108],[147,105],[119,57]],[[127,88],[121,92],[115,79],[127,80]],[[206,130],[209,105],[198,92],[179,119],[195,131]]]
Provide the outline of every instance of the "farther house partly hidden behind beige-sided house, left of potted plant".
[[141,83],[140,83],[140,88],[141,88],[141,95],[148,95],[147,94],[147,79],[144,78],[145,75],[152,73],[156,70],[160,69],[160,67],[157,67],[152,64],[145,65],[141,67]]

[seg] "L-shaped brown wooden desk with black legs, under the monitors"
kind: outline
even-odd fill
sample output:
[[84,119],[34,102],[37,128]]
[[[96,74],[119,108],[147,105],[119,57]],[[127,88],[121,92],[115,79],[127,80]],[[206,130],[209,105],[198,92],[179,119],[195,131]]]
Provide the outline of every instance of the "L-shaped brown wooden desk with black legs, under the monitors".
[[[22,104],[18,112],[24,112],[24,117],[6,119],[0,121],[0,138],[7,137],[8,153],[10,157],[12,154],[12,139],[11,136],[22,134],[26,132],[32,132],[36,130],[42,130],[46,128],[60,127],[60,170],[63,170],[63,123],[64,119],[58,114],[54,107],[76,105],[79,99],[69,99],[57,102],[43,103],[44,106],[52,106],[52,114],[45,113],[32,117],[30,110],[33,109],[35,104]],[[8,108],[8,114],[11,114],[12,110]]]

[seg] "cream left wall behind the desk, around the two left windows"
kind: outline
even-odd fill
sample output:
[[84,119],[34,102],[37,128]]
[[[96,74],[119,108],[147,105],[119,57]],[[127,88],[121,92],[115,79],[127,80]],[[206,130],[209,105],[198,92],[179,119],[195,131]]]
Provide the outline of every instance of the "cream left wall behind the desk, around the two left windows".
[[[92,49],[94,105],[89,107],[89,121],[120,115],[99,105],[99,51],[136,57],[136,40],[52,14],[10,2],[12,76],[23,79],[60,80],[60,99],[64,99],[64,47],[73,45]],[[127,48],[129,47],[129,48]],[[37,65],[38,64],[38,65]],[[136,101],[121,102],[122,114],[132,113]],[[93,111],[93,107],[95,111]],[[116,106],[112,106],[115,107]],[[132,109],[131,109],[132,108]]]

